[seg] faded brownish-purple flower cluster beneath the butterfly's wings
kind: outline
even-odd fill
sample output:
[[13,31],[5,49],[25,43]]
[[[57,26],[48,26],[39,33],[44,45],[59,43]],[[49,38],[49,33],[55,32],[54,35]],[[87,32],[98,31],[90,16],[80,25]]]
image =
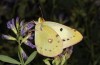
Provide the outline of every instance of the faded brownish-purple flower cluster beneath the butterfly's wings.
[[56,65],[64,65],[65,62],[70,58],[72,50],[73,50],[72,46],[64,49],[64,51],[59,56],[54,57],[52,63]]

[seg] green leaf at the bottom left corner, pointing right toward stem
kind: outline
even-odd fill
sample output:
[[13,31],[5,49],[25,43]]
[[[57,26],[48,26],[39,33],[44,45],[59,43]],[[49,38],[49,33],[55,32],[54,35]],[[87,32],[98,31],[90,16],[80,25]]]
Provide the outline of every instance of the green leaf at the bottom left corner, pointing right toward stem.
[[15,59],[13,59],[9,56],[5,56],[5,55],[0,55],[0,60],[3,61],[3,62],[12,63],[12,64],[21,64],[17,60],[15,60]]

